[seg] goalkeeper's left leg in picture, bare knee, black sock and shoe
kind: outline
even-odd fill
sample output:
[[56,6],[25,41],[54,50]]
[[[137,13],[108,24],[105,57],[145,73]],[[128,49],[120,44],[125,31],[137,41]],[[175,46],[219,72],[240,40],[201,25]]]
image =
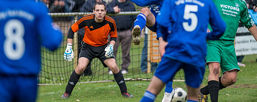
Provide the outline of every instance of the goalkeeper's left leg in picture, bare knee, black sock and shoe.
[[[83,50],[82,50],[83,53]],[[75,85],[79,81],[80,75],[85,70],[89,60],[85,57],[79,58],[79,63],[76,69],[71,73],[69,82],[66,86],[65,93],[61,96],[61,98],[68,98],[71,95],[72,90],[74,89]]]

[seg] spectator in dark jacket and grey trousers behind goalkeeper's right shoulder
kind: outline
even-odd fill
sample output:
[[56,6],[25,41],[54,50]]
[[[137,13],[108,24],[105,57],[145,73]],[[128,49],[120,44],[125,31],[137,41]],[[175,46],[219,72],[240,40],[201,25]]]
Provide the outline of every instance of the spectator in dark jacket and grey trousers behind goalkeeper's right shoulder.
[[[109,8],[120,8],[121,11],[136,11],[135,6],[130,1],[126,0],[114,0],[113,2],[108,4]],[[134,20],[136,19],[136,15],[123,15],[123,16],[111,16],[114,18],[117,24],[117,40],[114,45],[114,55],[116,57],[119,43],[121,44],[122,50],[122,65],[121,65],[121,73],[126,74],[128,69],[127,67],[131,63],[130,59],[130,48],[131,48],[131,40],[132,40],[132,28],[134,25]],[[109,70],[109,74],[113,74],[111,70]]]

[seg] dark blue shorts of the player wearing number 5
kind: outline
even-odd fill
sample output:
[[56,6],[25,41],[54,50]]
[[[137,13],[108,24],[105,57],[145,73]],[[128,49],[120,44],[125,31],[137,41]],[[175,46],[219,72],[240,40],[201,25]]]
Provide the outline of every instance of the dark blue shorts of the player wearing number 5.
[[193,88],[200,87],[205,74],[205,66],[194,66],[187,63],[183,63],[177,60],[173,60],[167,57],[163,57],[159,63],[154,75],[159,78],[163,83],[172,81],[176,72],[179,69],[183,69],[185,73],[186,84]]

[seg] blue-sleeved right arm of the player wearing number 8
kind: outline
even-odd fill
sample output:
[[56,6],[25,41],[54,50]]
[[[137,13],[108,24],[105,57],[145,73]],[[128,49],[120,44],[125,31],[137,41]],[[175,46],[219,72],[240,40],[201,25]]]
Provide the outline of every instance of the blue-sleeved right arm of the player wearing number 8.
[[42,44],[46,48],[54,50],[58,48],[62,42],[62,33],[60,28],[52,22],[51,17],[47,14],[48,9],[43,4],[39,5],[38,9],[40,9],[39,11],[41,11],[41,13],[38,15],[39,18],[35,18],[38,20],[39,25],[37,32],[40,35]]

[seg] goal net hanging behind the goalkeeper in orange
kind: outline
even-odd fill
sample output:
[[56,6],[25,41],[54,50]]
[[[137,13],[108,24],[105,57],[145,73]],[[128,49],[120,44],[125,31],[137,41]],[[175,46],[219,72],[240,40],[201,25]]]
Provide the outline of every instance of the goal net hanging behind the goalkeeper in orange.
[[[75,33],[72,49],[75,52],[75,58],[72,59],[71,62],[67,62],[63,58],[63,54],[67,45],[67,32],[70,26],[77,21],[81,16],[90,14],[91,12],[80,12],[79,6],[83,5],[85,1],[72,1],[72,0],[64,0],[66,5],[69,4],[70,12],[64,12],[62,10],[52,10],[54,4],[47,4],[50,12],[49,15],[52,17],[54,23],[58,24],[63,33],[63,41],[61,46],[55,50],[54,52],[50,52],[48,49],[42,47],[41,48],[41,66],[42,70],[38,75],[39,84],[66,84],[69,80],[69,77],[74,71],[74,69],[78,65],[78,58],[81,49],[81,41],[83,39],[84,33],[80,34],[80,32]],[[110,3],[110,1],[106,2]],[[138,7],[135,5],[136,11],[129,12],[120,12],[117,14],[106,14],[109,16],[129,16],[129,15],[137,15],[142,7]],[[57,9],[57,8],[56,8]],[[67,9],[67,8],[66,8]],[[54,11],[54,12],[52,12]],[[134,20],[133,20],[134,22]],[[117,23],[116,23],[117,24]],[[118,25],[118,24],[117,24]],[[132,25],[133,26],[133,25]],[[117,28],[118,31],[119,30]],[[128,29],[129,30],[129,29]],[[127,34],[127,36],[132,36],[132,34]],[[147,38],[147,39],[145,39]],[[133,40],[130,41],[130,58],[131,63],[127,67],[127,73],[123,74],[124,79],[127,81],[133,80],[142,80],[142,81],[150,81],[155,72],[155,68],[160,61],[160,56],[158,52],[158,40],[156,40],[156,34],[151,32],[147,28],[143,30],[140,37],[140,44],[135,45]],[[144,48],[144,46],[147,46]],[[144,50],[143,50],[144,48]],[[145,52],[142,53],[142,52]],[[116,62],[118,67],[122,68],[122,48],[121,44],[119,44],[118,52],[116,55]],[[142,65],[143,64],[143,65]],[[145,67],[143,67],[145,65]],[[143,67],[141,69],[141,67]],[[172,67],[172,66],[171,66]],[[151,69],[152,68],[152,69]],[[108,68],[105,68],[101,61],[97,58],[93,59],[90,63],[89,68],[85,69],[86,71],[81,75],[79,82],[108,82],[115,81],[113,74],[108,74]],[[175,75],[176,80],[183,80],[184,75],[183,71],[180,70]]]

